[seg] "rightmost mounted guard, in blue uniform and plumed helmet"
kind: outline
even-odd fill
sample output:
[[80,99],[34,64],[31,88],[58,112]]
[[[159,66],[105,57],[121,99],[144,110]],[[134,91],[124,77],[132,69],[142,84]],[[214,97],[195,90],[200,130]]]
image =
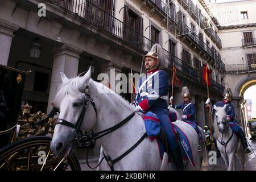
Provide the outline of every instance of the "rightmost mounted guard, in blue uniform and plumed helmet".
[[[253,152],[251,152],[251,150],[248,148],[247,141],[245,138],[245,134],[243,133],[242,127],[237,123],[236,119],[234,118],[235,112],[234,112],[234,106],[233,104],[231,104],[231,99],[232,99],[231,90],[229,88],[225,88],[222,101],[216,102],[215,105],[217,107],[224,107],[226,105],[226,109],[225,109],[227,114],[226,121],[228,121],[229,125],[232,125],[232,127],[230,128],[233,130],[233,132],[238,134],[241,140],[241,143],[243,145],[243,149],[245,150],[245,154],[246,155],[253,154]],[[210,99],[208,98],[205,104],[209,104],[209,103],[210,103]],[[214,110],[214,107],[212,107],[212,109]]]

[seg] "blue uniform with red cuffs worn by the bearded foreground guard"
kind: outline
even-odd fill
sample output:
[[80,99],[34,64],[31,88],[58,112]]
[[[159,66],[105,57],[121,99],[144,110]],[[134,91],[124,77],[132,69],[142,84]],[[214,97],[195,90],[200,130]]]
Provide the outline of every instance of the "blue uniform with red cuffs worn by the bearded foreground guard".
[[139,78],[135,103],[141,107],[143,111],[151,111],[159,118],[160,125],[163,126],[168,138],[172,159],[174,159],[175,166],[178,169],[183,168],[183,159],[174,126],[168,117],[168,89],[167,73],[163,70],[154,69],[147,72],[146,76]]

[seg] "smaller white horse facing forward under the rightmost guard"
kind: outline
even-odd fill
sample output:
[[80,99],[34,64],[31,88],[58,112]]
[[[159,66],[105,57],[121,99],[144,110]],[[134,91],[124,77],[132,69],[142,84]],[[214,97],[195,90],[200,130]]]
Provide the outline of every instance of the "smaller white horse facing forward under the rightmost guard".
[[244,170],[245,152],[241,141],[233,133],[226,121],[226,105],[224,107],[213,105],[213,108],[216,110],[213,123],[214,138],[217,138],[217,147],[221,152],[226,168],[228,168],[228,171],[236,170],[236,157],[238,157],[242,163],[242,170]]

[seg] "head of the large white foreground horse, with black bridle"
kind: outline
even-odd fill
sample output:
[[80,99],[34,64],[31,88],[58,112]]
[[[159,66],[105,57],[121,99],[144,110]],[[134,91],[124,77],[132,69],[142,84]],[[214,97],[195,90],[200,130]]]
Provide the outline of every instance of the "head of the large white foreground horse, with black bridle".
[[[75,146],[75,134],[91,129],[96,123],[96,113],[88,89],[91,71],[83,77],[68,79],[61,74],[62,84],[55,96],[55,104],[60,109],[56,123],[51,150],[55,155],[68,155]],[[90,113],[90,114],[86,114]]]

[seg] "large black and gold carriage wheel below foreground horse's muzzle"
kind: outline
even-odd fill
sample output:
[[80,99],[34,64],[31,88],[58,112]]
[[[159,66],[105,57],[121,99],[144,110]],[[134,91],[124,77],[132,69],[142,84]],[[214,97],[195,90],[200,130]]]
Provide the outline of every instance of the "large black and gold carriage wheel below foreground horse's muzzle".
[[0,170],[5,171],[81,171],[74,154],[55,156],[50,150],[51,137],[28,137],[0,150]]

